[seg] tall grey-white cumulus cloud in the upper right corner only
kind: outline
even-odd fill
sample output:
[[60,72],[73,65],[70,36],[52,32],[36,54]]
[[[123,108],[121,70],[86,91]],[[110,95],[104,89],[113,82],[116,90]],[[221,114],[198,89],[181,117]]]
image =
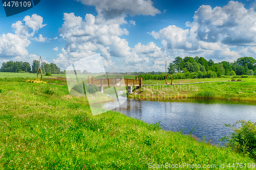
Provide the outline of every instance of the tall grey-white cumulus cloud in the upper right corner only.
[[203,5],[195,12],[191,27],[197,27],[197,38],[201,41],[242,46],[255,44],[256,12],[234,1],[222,8]]

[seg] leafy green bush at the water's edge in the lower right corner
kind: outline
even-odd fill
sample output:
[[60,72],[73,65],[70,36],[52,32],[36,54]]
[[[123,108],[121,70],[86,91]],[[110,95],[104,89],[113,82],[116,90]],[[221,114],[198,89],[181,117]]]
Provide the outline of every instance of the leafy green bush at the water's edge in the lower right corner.
[[[236,128],[238,124],[241,124],[241,127]],[[233,125],[225,124],[225,126],[234,131],[230,136],[221,139],[222,141],[228,139],[227,147],[256,160],[256,123],[239,120]]]

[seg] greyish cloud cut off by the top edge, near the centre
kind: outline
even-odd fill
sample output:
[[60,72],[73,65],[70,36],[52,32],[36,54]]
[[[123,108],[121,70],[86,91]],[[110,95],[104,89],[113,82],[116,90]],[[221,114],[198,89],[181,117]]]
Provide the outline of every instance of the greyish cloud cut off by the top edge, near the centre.
[[105,18],[114,18],[117,16],[124,16],[129,14],[135,15],[156,15],[160,13],[158,9],[153,6],[151,0],[77,0],[84,5],[95,6],[98,14]]

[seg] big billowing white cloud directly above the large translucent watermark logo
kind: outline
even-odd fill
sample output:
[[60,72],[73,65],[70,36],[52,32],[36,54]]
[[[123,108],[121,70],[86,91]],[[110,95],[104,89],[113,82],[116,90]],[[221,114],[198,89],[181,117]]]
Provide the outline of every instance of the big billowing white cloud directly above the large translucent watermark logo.
[[[108,61],[111,56],[127,57],[132,55],[128,42],[119,37],[129,34],[125,28],[120,28],[121,24],[127,23],[124,18],[105,20],[99,16],[86,14],[82,19],[80,16],[75,16],[74,13],[65,13],[63,19],[64,22],[59,28],[59,33],[66,40],[66,46],[65,50],[62,49],[62,54],[59,54],[54,60],[58,64],[66,65],[67,61],[79,60],[79,58],[95,54],[96,51],[100,52]],[[65,62],[61,62],[61,60]]]

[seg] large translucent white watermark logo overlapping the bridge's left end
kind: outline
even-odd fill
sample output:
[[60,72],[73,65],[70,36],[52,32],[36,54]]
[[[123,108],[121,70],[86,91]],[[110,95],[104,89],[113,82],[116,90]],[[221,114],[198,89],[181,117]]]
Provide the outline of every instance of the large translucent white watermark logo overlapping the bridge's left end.
[[127,100],[126,87],[120,86],[124,79],[106,74],[100,54],[69,65],[66,78],[70,94],[87,98],[92,115],[113,110]]

